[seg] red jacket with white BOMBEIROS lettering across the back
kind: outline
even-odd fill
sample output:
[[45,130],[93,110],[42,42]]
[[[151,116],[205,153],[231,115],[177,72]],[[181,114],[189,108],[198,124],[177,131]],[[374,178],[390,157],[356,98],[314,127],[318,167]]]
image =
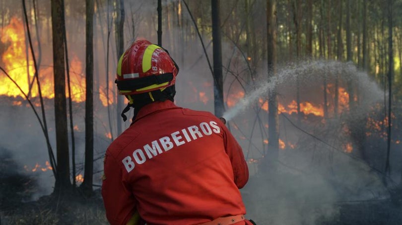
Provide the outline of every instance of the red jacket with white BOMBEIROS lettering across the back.
[[197,225],[246,214],[239,188],[249,174],[233,135],[211,113],[169,100],[141,108],[107,149],[104,174],[112,225],[125,225],[135,210],[147,225]]

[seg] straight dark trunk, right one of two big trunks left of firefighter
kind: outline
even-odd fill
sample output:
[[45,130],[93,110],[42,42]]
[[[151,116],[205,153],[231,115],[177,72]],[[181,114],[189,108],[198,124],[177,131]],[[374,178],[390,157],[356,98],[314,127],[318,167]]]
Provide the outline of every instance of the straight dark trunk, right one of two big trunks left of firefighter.
[[85,171],[82,190],[92,194],[93,178],[93,15],[94,0],[85,0]]

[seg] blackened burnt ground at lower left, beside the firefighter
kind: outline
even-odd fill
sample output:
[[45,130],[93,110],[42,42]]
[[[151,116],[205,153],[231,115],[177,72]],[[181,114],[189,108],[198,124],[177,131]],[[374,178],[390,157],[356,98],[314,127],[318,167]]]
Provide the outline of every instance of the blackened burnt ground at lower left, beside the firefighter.
[[18,168],[0,151],[0,225],[107,225],[100,189],[85,198],[79,189],[67,196],[48,195],[28,201],[38,191],[35,176]]

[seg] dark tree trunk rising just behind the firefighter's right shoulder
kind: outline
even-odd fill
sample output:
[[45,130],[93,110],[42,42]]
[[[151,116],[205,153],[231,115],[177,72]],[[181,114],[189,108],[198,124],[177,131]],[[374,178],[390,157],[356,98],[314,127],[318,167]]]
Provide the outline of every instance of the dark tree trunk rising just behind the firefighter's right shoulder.
[[214,79],[214,106],[215,116],[223,115],[223,76],[222,76],[222,47],[220,31],[220,0],[211,0],[212,9],[212,51],[213,51],[213,79]]

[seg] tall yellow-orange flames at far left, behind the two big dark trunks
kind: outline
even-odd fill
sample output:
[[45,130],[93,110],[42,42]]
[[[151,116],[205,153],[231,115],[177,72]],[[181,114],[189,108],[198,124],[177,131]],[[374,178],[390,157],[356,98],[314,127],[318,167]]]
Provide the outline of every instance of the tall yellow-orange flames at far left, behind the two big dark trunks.
[[[5,64],[5,70],[18,86],[28,94],[35,77],[35,68],[30,51],[26,49],[23,23],[16,17],[12,17],[10,23],[3,27],[0,41],[5,46],[8,46],[1,56],[1,60]],[[28,56],[26,52],[28,52]],[[82,63],[77,56],[72,57],[69,68],[71,98],[73,101],[82,102],[85,100],[85,82],[82,82]],[[39,67],[38,69],[42,95],[47,98],[53,98],[53,67]],[[0,95],[23,97],[20,90],[6,76],[0,76],[0,83]],[[66,95],[68,96],[67,88]],[[30,96],[38,96],[36,82],[32,85]]]

